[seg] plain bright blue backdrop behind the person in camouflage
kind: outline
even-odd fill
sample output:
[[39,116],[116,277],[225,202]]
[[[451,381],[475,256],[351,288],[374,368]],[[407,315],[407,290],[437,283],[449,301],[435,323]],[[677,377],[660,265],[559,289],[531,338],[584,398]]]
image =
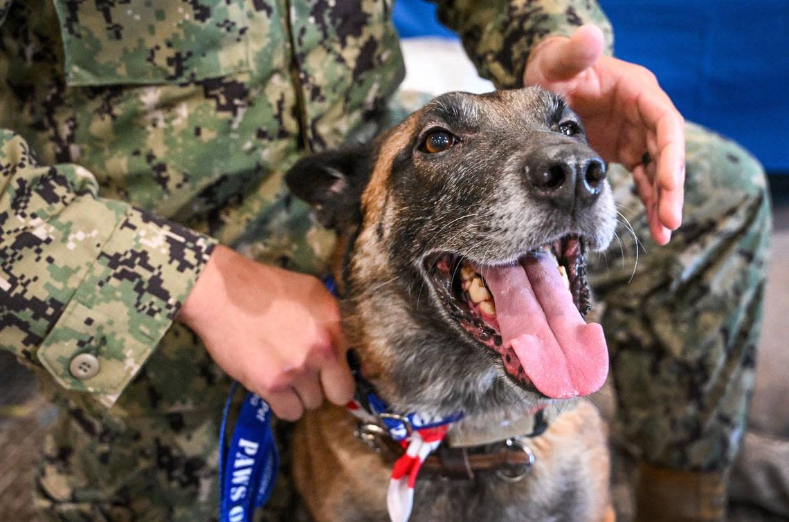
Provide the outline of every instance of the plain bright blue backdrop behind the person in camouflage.
[[[616,55],[645,65],[687,120],[789,173],[789,0],[602,0]],[[456,36],[425,0],[394,2],[404,38]]]

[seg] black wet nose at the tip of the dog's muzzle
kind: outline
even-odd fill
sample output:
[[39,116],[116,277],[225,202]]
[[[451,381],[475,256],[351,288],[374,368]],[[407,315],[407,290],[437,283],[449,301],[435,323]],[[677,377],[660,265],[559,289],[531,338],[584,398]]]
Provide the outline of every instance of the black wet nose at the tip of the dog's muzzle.
[[542,147],[524,166],[533,196],[571,210],[593,203],[603,188],[605,163],[589,147],[558,144]]

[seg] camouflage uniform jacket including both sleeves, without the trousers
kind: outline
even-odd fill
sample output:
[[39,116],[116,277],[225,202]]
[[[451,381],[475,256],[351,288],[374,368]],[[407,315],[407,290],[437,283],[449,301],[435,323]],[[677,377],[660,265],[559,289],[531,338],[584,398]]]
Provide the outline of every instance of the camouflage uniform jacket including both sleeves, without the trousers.
[[[500,88],[546,35],[593,22],[610,47],[589,0],[436,3]],[[391,7],[0,0],[0,348],[110,406],[216,241],[322,271],[331,235],[282,173],[385,108]]]

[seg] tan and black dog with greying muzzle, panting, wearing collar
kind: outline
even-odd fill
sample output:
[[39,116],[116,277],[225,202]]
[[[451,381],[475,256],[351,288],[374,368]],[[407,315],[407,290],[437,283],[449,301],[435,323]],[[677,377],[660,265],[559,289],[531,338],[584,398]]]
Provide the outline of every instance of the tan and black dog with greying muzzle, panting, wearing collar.
[[[466,473],[420,475],[413,520],[612,520],[604,423],[577,398],[608,372],[600,326],[581,319],[585,252],[615,228],[605,174],[579,117],[540,88],[441,95],[286,174],[337,233],[343,329],[366,381],[393,412],[462,412],[442,447],[462,447]],[[355,430],[331,405],[295,429],[314,520],[388,520],[387,444]],[[519,470],[469,464],[518,452]]]

